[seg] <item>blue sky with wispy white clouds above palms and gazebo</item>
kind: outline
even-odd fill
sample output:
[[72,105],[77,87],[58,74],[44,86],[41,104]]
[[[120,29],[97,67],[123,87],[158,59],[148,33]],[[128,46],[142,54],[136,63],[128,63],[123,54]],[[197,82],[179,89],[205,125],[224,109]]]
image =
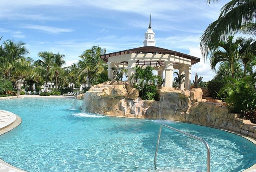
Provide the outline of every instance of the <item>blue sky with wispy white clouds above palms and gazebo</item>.
[[[26,43],[30,57],[52,51],[66,55],[66,65],[77,62],[91,46],[107,53],[143,46],[152,13],[156,46],[201,58],[200,36],[228,2],[206,0],[1,0],[2,40]],[[207,81],[213,78],[208,62],[192,67]]]

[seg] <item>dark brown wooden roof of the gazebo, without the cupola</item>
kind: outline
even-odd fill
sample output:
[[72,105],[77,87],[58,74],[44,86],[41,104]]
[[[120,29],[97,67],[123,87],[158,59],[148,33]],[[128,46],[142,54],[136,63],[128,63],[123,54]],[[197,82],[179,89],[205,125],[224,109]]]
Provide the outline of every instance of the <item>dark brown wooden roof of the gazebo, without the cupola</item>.
[[[198,58],[198,57],[190,56],[188,54],[184,54],[184,53],[181,53],[181,52],[168,50],[168,49],[160,48],[160,47],[156,47],[156,46],[142,46],[142,47],[138,47],[138,48],[132,48],[132,49],[129,49],[129,50],[112,52],[112,53],[101,55],[100,58],[103,59],[104,62],[108,62],[109,57],[120,56],[120,55],[124,55],[124,54],[132,54],[132,53],[136,53],[136,54],[152,53],[152,54],[164,54],[164,55],[165,54],[170,54],[170,55],[173,55],[173,56],[178,56],[178,57],[190,59],[191,64],[195,64],[197,62],[200,62],[200,58]],[[152,60],[154,60],[154,59],[152,59]]]

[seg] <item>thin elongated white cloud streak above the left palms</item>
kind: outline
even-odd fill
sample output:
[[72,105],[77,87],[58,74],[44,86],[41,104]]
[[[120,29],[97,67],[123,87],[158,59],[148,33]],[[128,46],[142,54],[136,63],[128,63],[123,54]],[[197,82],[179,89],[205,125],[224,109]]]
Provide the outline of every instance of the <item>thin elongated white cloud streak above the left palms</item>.
[[73,32],[73,29],[65,29],[65,28],[54,28],[51,26],[41,26],[41,25],[27,25],[23,26],[23,28],[28,28],[28,29],[36,29],[36,30],[41,30],[43,32],[46,32],[48,34],[60,34],[62,32]]

